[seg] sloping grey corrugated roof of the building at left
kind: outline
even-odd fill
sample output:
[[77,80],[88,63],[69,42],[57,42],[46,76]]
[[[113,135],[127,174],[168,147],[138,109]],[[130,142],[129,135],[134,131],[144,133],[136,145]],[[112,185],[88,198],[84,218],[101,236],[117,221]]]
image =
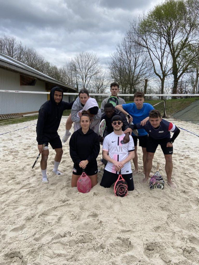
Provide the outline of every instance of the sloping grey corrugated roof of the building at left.
[[[71,92],[74,92],[74,91],[76,92],[76,90],[73,89],[72,87],[70,87],[70,86],[50,77],[50,76],[47,76],[44,73],[41,73],[38,70],[36,70],[36,69],[26,65],[26,64],[23,64],[20,61],[17,61],[17,60],[13,59],[12,57],[10,57],[6,54],[3,54],[2,52],[0,52],[0,67],[5,68],[7,70],[11,70],[13,72],[23,74],[25,76],[31,76],[31,77],[37,78],[38,80],[42,80],[42,81],[45,81],[48,83],[58,85],[60,87],[67,88],[67,89],[71,90]],[[70,91],[68,91],[68,92],[70,92]]]

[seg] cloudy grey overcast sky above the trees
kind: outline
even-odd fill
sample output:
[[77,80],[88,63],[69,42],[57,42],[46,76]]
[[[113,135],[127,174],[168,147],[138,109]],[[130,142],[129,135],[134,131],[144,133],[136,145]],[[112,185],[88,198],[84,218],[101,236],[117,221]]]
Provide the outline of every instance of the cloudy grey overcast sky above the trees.
[[160,0],[0,0],[0,35],[13,35],[62,66],[79,51],[106,64],[128,21]]

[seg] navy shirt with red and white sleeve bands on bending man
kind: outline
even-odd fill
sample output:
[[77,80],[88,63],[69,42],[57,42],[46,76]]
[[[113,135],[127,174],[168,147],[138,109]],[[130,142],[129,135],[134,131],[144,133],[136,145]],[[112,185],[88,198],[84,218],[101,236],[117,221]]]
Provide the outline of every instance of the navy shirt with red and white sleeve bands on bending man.
[[141,126],[140,123],[137,123],[136,126],[137,128],[144,128],[149,136],[154,139],[170,138],[170,132],[175,133],[178,130],[178,127],[176,127],[175,124],[163,119],[158,128],[154,128],[149,121],[147,121],[144,126]]

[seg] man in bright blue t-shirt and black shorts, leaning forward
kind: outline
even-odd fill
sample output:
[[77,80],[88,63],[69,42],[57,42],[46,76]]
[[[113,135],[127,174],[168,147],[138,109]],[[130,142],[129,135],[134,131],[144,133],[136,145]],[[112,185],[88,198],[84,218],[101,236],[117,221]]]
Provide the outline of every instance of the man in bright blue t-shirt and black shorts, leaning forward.
[[[144,125],[149,120],[149,112],[154,109],[149,103],[144,103],[144,93],[136,92],[134,94],[134,103],[128,103],[123,105],[115,106],[115,109],[122,111],[125,115],[130,115],[129,122],[133,121],[134,124],[141,122]],[[138,170],[138,157],[137,157],[137,139],[139,139],[139,146],[142,147],[142,160],[143,160],[143,170],[145,174],[145,162],[146,162],[146,143],[148,139],[148,134],[144,129],[138,130],[138,136],[132,133],[133,141],[135,144],[135,157],[133,158],[133,164],[135,170],[133,170],[133,175],[139,172]]]

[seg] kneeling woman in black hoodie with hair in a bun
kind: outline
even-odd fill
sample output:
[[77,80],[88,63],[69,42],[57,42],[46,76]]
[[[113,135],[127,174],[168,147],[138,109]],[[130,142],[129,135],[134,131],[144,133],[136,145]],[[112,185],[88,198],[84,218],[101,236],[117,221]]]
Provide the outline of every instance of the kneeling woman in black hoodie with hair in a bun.
[[99,136],[89,128],[91,118],[83,111],[80,118],[81,128],[71,135],[69,142],[70,156],[74,162],[71,187],[77,187],[77,180],[85,169],[91,179],[92,187],[97,184],[97,160],[100,145]]

